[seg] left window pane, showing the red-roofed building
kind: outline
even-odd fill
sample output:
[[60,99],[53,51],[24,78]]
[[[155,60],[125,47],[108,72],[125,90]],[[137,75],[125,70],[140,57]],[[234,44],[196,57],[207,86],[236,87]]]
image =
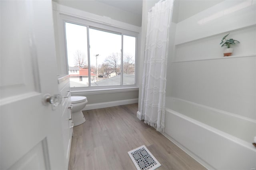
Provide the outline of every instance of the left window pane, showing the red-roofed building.
[[70,87],[88,87],[87,28],[66,22]]

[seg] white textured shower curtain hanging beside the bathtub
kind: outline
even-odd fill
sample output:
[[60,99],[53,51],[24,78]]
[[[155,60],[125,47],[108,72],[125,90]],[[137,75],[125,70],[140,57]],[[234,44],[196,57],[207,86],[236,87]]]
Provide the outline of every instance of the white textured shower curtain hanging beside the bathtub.
[[148,12],[140,113],[144,122],[164,130],[166,68],[173,0],[160,1]]

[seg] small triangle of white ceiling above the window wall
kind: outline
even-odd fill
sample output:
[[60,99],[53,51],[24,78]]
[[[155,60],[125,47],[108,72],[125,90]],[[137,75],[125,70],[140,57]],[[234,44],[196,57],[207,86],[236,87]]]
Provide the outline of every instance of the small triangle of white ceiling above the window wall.
[[142,0],[95,0],[121,10],[142,15]]

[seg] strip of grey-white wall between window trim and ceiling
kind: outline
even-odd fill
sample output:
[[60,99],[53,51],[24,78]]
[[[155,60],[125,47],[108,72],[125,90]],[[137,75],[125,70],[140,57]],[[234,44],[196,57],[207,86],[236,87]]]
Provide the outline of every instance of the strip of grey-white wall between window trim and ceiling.
[[113,6],[109,6],[95,0],[53,0],[58,4],[76,8],[96,14],[99,16],[107,16],[114,20],[126,22],[135,26],[141,26],[141,16],[124,10],[120,10]]

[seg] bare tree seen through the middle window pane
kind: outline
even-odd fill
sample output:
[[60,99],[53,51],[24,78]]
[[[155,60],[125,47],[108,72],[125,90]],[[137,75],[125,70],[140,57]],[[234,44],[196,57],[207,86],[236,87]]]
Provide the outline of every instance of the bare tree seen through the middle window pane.
[[112,71],[118,74],[120,72],[120,53],[112,53],[105,59],[105,64],[107,64]]

